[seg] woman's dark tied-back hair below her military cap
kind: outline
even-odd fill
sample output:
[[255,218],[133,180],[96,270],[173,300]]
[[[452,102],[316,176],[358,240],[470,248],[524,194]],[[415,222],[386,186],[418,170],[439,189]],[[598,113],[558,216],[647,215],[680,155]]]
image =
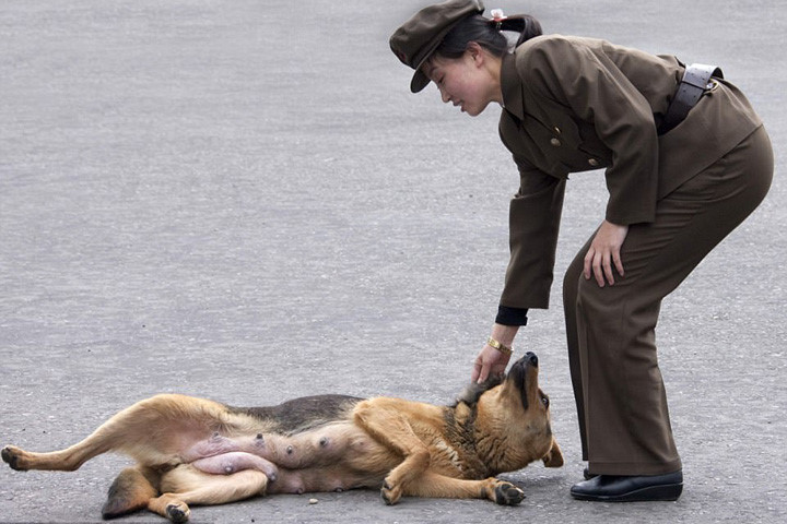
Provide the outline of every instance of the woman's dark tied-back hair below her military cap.
[[517,14],[500,21],[474,14],[466,17],[448,32],[435,49],[435,55],[459,58],[465,55],[468,45],[474,41],[493,56],[502,57],[509,48],[508,39],[501,33],[502,31],[519,33],[519,38],[514,46],[517,47],[521,43],[541,35],[541,24],[529,14]]

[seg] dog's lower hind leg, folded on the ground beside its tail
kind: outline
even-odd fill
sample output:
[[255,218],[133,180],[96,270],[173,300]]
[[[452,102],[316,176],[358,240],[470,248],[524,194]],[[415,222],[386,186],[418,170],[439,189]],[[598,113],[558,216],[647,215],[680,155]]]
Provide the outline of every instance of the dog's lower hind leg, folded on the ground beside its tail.
[[232,475],[211,475],[181,465],[162,477],[164,495],[151,499],[148,509],[181,523],[189,519],[189,505],[214,505],[266,493],[268,477],[256,469]]

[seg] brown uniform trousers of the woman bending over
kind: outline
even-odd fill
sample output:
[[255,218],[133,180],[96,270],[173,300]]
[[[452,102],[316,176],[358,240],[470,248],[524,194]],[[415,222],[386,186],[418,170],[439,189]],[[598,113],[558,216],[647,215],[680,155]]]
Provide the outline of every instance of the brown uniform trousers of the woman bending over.
[[625,277],[599,287],[583,276],[590,240],[563,282],[568,359],[583,460],[603,475],[681,468],[656,355],[661,300],[751,214],[771,187],[774,157],[760,128],[658,202],[656,221],[632,225]]

